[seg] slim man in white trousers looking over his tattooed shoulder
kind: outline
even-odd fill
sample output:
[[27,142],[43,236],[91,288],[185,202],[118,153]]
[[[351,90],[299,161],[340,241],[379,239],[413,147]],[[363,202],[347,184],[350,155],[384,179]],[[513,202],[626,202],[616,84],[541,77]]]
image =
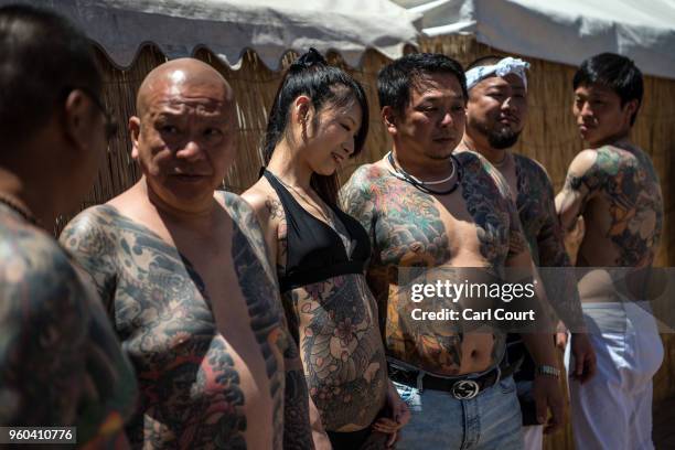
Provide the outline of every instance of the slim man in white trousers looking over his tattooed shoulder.
[[[579,282],[598,374],[583,385],[570,384],[575,443],[651,449],[652,376],[663,346],[634,280],[654,261],[663,197],[650,157],[629,138],[642,101],[642,74],[629,58],[603,53],[581,63],[574,88],[572,111],[589,148],[572,160],[556,208],[566,229],[583,216],[577,266],[622,268],[589,269]],[[602,282],[608,276],[611,281]],[[629,299],[614,288],[625,281],[633,286]]]

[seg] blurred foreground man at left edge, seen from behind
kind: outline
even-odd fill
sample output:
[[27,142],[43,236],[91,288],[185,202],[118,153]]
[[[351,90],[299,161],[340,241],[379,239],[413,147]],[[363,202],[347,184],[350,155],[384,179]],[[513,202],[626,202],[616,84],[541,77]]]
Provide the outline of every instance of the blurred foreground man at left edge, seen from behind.
[[89,40],[65,19],[0,8],[0,426],[77,427],[82,447],[127,448],[133,369],[51,235],[114,132],[101,85]]

